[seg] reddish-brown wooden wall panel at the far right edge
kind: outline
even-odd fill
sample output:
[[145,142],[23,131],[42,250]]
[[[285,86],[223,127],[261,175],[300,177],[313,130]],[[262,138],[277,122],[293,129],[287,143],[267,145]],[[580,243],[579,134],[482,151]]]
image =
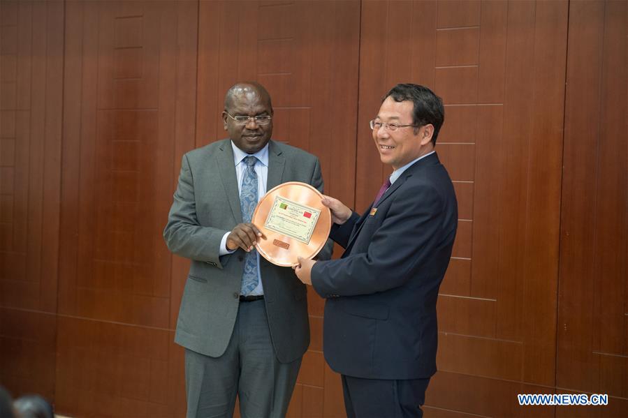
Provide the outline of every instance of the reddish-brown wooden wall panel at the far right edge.
[[[628,4],[572,1],[557,385],[628,410]],[[604,416],[571,408],[571,413]],[[559,414],[559,416],[563,416]]]

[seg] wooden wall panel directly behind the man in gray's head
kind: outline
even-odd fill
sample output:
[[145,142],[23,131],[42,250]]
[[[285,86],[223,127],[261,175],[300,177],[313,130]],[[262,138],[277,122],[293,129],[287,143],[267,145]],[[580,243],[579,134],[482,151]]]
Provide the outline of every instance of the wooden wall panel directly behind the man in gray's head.
[[[224,94],[256,80],[272,97],[273,138],[319,156],[326,193],[353,204],[359,8],[358,1],[200,2],[196,142],[186,138],[177,151],[226,137]],[[175,263],[173,280],[187,267]],[[342,416],[339,377],[322,353],[323,301],[312,291],[308,301],[312,345],[289,415]]]

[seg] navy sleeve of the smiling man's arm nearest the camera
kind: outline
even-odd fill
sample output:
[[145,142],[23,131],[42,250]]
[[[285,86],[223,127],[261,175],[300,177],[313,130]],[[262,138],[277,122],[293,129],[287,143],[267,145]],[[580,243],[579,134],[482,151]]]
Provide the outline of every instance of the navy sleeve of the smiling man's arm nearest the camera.
[[442,239],[443,201],[431,186],[400,192],[372,234],[367,251],[314,264],[312,285],[321,297],[397,288],[428,262]]

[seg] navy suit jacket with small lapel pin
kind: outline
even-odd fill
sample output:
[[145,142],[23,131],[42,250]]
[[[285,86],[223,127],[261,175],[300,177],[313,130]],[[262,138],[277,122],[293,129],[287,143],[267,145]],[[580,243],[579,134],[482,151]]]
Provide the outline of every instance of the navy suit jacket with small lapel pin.
[[334,371],[400,380],[436,372],[436,301],[457,226],[453,184],[437,154],[403,172],[377,210],[333,226],[346,251],[316,262],[312,285],[326,298],[323,352]]

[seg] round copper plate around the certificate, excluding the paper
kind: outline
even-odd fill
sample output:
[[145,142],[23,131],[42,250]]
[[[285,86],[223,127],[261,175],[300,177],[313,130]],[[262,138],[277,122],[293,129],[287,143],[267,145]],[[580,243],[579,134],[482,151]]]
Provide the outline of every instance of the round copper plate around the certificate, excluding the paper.
[[[321,211],[307,244],[265,227],[277,197]],[[272,188],[258,202],[251,220],[266,236],[266,239],[261,239],[256,244],[257,251],[272,264],[283,267],[298,265],[299,256],[311,259],[318,254],[327,242],[331,230],[331,212],[321,203],[322,198],[323,195],[316,188],[299,181],[289,181]]]

